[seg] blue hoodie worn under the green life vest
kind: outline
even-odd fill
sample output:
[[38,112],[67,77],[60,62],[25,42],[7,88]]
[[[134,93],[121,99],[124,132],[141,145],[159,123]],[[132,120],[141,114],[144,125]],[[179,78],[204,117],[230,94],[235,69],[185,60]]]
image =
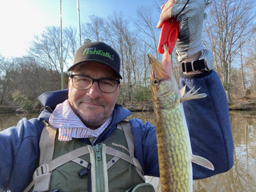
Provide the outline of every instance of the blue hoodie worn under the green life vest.
[[[227,172],[233,166],[233,139],[229,121],[226,93],[218,74],[214,71],[198,75],[181,74],[180,86],[187,84],[186,91],[194,85],[207,97],[183,103],[194,155],[212,162],[215,170],[192,164],[193,179],[202,179]],[[22,192],[31,182],[39,164],[39,140],[44,122],[49,121],[56,105],[68,99],[68,90],[47,92],[38,98],[48,109],[39,117],[23,118],[16,127],[0,132],[0,191]],[[116,129],[116,124],[131,112],[121,105],[115,106],[108,128],[97,137],[94,144],[104,141]],[[140,161],[145,175],[159,177],[155,126],[143,124],[140,119],[130,119],[135,145],[135,157]],[[91,144],[88,139],[79,139]]]

